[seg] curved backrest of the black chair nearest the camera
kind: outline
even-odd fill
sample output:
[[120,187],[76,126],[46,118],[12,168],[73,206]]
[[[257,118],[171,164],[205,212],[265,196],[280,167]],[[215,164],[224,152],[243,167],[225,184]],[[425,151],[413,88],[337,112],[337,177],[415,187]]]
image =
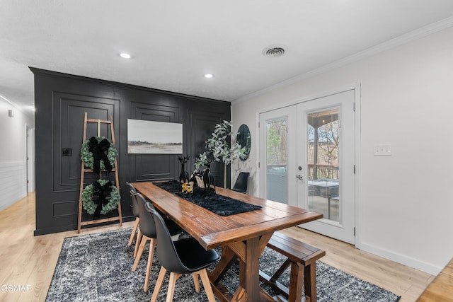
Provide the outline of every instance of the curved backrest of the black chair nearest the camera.
[[147,202],[146,207],[150,212],[149,214],[152,214],[154,221],[156,221],[157,240],[159,241],[157,244],[157,257],[159,258],[161,265],[169,272],[176,272],[178,274],[192,272],[191,269],[185,267],[181,262],[173,240],[171,240],[170,232],[168,231],[161,214],[152,207],[151,202]]

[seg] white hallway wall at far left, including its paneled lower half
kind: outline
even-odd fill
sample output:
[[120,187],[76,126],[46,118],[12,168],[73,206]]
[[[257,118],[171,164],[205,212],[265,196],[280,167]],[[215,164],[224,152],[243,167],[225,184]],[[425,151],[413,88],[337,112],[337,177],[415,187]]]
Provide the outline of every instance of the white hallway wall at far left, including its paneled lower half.
[[27,126],[33,118],[0,98],[0,211],[27,196]]

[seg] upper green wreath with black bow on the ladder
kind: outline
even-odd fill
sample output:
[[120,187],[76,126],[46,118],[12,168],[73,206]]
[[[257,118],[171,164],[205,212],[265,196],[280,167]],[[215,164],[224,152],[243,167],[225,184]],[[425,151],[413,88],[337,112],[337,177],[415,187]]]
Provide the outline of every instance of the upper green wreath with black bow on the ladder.
[[80,159],[87,168],[99,174],[99,170],[113,168],[117,151],[114,144],[105,137],[91,137],[82,144],[80,149]]

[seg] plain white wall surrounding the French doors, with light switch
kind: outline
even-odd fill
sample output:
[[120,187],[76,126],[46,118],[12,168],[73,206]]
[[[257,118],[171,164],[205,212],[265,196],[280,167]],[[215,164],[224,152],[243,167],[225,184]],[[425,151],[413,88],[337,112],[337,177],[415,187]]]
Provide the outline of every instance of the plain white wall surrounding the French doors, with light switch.
[[[357,247],[437,274],[453,256],[453,28],[234,102],[234,126],[247,124],[253,141],[248,161],[232,168],[251,171],[249,193],[258,195],[257,112],[354,83],[362,92]],[[373,156],[374,144],[391,144],[391,156]]]

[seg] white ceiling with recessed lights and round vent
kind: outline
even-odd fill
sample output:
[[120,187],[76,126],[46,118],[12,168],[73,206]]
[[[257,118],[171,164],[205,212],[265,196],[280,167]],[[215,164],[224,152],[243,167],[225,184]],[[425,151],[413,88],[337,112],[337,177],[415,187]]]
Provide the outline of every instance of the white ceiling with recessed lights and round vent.
[[234,101],[451,16],[452,0],[3,0],[0,95],[33,105],[32,66]]

